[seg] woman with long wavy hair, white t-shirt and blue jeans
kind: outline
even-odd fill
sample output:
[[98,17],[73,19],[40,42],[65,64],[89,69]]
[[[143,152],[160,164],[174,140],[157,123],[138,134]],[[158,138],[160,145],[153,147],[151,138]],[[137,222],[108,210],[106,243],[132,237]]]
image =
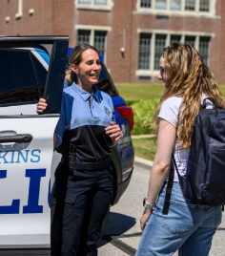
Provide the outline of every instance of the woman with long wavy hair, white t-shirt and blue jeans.
[[[176,250],[183,256],[207,256],[221,223],[221,206],[198,205],[185,198],[174,173],[169,213],[162,211],[172,154],[179,174],[184,175],[201,103],[212,97],[224,109],[225,102],[209,68],[189,44],[174,43],[163,50],[158,79],[165,83],[166,90],[153,118],[157,146],[136,256],[169,256]],[[213,106],[208,102],[207,107]]]

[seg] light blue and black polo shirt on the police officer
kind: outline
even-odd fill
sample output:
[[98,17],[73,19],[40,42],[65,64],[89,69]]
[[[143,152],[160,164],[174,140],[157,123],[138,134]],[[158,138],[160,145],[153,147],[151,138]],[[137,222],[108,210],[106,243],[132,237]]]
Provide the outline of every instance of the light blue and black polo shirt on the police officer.
[[70,143],[75,146],[76,160],[98,161],[109,158],[112,145],[105,128],[115,123],[111,96],[92,85],[93,94],[74,82],[63,92],[61,115],[55,128],[56,150],[69,155]]

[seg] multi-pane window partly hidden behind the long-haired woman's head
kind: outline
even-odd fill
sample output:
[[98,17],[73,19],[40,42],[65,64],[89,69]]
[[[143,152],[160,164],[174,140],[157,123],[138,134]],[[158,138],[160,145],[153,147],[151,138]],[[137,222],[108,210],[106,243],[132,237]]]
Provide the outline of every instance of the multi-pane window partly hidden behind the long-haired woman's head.
[[[204,62],[209,66],[210,63],[210,41],[214,33],[167,31],[167,30],[146,30],[138,29],[139,38],[139,59],[138,69],[135,75],[139,77],[157,76],[159,71],[159,60],[162,51],[168,45],[174,43],[189,43],[202,56]],[[144,79],[144,78],[143,78]]]

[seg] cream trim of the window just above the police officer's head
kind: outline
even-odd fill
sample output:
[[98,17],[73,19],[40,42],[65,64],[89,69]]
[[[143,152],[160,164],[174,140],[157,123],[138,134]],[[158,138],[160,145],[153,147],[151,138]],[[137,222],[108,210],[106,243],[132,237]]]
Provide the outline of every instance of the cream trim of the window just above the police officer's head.
[[[80,30],[80,31],[91,31],[90,34],[90,44],[94,45],[94,32],[98,31],[98,32],[111,32],[112,31],[112,27],[109,26],[92,26],[92,25],[75,25],[75,30]],[[107,38],[108,38],[108,33],[106,35],[106,55],[104,56],[104,63],[106,64],[106,60],[107,60]]]

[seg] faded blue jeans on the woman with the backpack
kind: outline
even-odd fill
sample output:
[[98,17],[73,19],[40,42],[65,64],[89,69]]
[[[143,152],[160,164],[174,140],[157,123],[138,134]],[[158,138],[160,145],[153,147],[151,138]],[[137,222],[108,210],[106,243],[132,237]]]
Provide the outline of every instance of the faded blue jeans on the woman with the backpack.
[[166,186],[143,231],[135,256],[207,256],[217,226],[221,206],[198,205],[184,198],[179,182],[174,182],[168,215],[162,213]]

